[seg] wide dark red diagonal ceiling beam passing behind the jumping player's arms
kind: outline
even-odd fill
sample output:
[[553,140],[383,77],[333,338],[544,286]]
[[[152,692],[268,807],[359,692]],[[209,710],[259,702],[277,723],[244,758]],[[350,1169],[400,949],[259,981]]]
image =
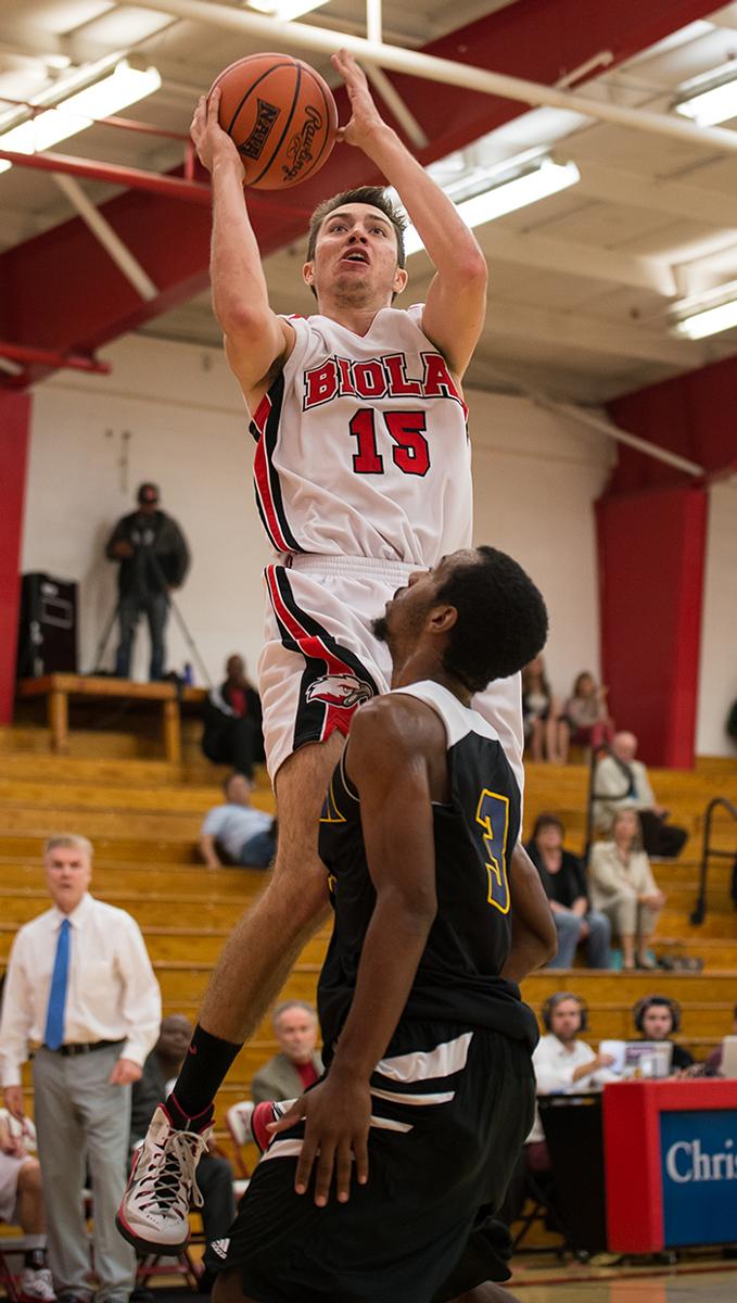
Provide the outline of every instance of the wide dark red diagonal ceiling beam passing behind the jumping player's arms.
[[[424,52],[552,85],[603,50],[615,64],[703,17],[714,0],[517,0]],[[430,163],[522,113],[510,100],[391,74],[430,145]],[[337,93],[341,120],[348,106]],[[305,232],[306,215],[326,194],[374,180],[361,151],[337,147],[323,172],[284,195],[249,195],[263,253]],[[210,216],[167,195],[129,192],[102,212],[130,248],[160,294],[142,302],[81,219],[73,219],[0,255],[0,335],[55,352],[91,352],[186,301],[207,284]],[[31,379],[46,373],[34,367]],[[0,382],[1,383],[1,382]]]

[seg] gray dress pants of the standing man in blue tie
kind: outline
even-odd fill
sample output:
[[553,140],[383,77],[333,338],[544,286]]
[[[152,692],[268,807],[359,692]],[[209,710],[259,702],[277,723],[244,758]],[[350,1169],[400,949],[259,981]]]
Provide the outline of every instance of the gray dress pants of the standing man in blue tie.
[[118,1057],[120,1045],[74,1058],[39,1049],[33,1066],[53,1283],[57,1294],[92,1293],[82,1207],[89,1167],[99,1303],[128,1303],[135,1280],[135,1253],[115,1226],[130,1132],[130,1087],[108,1081]]

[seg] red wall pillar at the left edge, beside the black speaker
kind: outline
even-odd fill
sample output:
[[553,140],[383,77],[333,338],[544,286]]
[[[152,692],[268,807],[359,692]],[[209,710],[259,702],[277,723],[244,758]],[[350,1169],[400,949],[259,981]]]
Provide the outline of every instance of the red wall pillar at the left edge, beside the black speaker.
[[13,717],[31,399],[0,391],[0,724]]

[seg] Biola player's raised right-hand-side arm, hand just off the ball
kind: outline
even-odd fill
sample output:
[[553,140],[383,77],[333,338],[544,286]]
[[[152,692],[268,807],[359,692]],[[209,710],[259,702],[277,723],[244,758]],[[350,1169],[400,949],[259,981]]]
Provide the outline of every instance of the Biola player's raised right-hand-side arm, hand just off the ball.
[[454,205],[382,119],[353,55],[342,50],[332,63],[345,81],[352,108],[339,138],[362,149],[380,168],[417,227],[436,270],[422,328],[461,379],[486,315],[486,258]]

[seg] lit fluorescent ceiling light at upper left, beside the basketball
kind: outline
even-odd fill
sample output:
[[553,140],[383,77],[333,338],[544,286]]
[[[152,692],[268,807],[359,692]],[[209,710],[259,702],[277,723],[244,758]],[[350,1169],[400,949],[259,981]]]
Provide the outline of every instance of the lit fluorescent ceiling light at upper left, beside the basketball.
[[[38,154],[40,150],[48,150],[59,141],[85,132],[95,119],[109,117],[121,108],[145,99],[146,95],[159,90],[160,85],[161,78],[155,68],[141,70],[132,68],[128,60],[122,59],[107,77],[69,95],[57,108],[48,108],[27,122],[21,122],[20,126],[1,132],[0,149],[13,150],[17,154]],[[7,172],[9,167],[10,163],[0,159],[0,172]]]

